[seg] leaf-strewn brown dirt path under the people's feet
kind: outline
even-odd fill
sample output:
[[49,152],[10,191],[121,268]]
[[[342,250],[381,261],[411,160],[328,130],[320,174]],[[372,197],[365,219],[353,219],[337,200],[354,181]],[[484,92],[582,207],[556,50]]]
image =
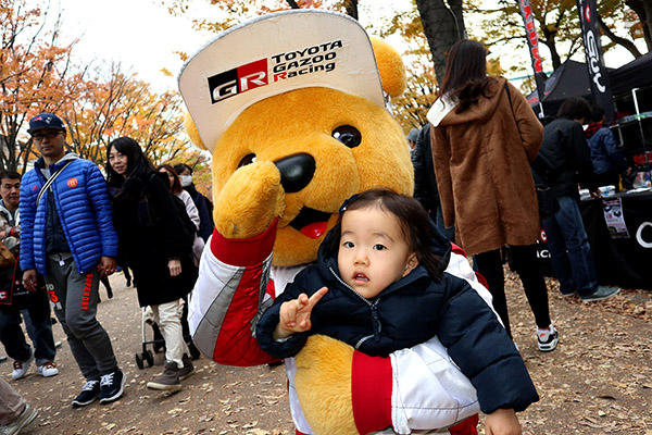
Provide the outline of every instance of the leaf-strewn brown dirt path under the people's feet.
[[[551,311],[561,340],[557,350],[541,353],[531,312],[514,279],[510,274],[512,328],[541,396],[519,414],[524,434],[652,435],[652,293],[623,291],[588,304],[562,299],[551,282]],[[122,275],[111,281],[115,297],[106,299],[101,287],[99,319],[127,374],[124,398],[73,409],[70,401],[84,382],[65,341],[55,377],[30,374],[12,382],[11,364],[1,363],[0,374],[40,409],[27,434],[293,434],[283,366],[227,368],[200,359],[178,394],[148,390],[146,382],[161,365],[136,366],[141,343],[136,294],[124,287]],[[64,339],[60,325],[54,334]]]

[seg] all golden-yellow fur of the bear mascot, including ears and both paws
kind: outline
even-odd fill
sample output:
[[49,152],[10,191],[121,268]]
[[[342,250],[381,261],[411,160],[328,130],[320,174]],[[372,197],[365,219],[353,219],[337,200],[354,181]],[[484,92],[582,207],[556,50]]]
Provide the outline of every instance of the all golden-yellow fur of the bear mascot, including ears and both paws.
[[[383,86],[398,96],[405,86],[400,55],[374,40]],[[203,146],[189,116],[192,141]],[[349,148],[333,137],[342,125],[358,128],[362,141]],[[351,195],[386,186],[412,195],[414,183],[401,127],[376,103],[329,88],[276,95],[244,110],[214,144],[214,221],[225,237],[263,233],[279,216],[275,265],[313,262],[323,237],[311,239],[288,224],[303,207],[329,213],[328,229]],[[315,172],[308,186],[287,194],[274,161],[309,153]],[[241,165],[248,154],[255,163]],[[325,234],[324,234],[325,235]],[[297,356],[296,386],[305,418],[317,435],[356,434],[351,403],[353,349],[333,338],[311,337]]]

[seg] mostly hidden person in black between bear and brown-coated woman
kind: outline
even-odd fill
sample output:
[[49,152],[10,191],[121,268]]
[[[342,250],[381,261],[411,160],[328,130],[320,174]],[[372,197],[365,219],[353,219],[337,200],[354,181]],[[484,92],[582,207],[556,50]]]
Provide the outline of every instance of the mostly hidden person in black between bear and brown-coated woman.
[[441,203],[439,203],[439,190],[437,189],[437,177],[432,165],[432,147],[430,145],[430,123],[427,123],[418,132],[416,146],[411,154],[414,166],[414,199],[426,209],[430,219],[437,224],[439,231],[450,240],[455,239],[455,228],[447,228],[443,224]]

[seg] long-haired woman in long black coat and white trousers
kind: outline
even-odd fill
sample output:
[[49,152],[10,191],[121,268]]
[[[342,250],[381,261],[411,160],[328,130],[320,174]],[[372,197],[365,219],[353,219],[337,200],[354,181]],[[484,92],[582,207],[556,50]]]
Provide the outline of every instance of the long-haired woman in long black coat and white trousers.
[[140,307],[151,307],[165,338],[163,374],[148,388],[178,390],[193,372],[181,332],[184,297],[197,278],[192,245],[179,228],[181,216],[165,174],[154,170],[136,140],[117,138],[106,149],[106,174],[120,257],[138,282]]

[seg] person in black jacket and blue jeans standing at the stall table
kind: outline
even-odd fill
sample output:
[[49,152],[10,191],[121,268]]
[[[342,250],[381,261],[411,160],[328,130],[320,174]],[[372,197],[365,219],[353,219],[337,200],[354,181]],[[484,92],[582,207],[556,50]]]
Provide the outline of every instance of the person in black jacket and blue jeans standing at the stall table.
[[606,299],[619,289],[598,285],[591,247],[579,212],[578,184],[598,197],[591,152],[582,124],[590,117],[591,107],[582,98],[568,98],[556,120],[546,125],[543,144],[532,171],[539,184],[552,194],[550,210],[543,210],[543,229],[550,249],[552,268],[564,296],[578,294],[584,301]]

